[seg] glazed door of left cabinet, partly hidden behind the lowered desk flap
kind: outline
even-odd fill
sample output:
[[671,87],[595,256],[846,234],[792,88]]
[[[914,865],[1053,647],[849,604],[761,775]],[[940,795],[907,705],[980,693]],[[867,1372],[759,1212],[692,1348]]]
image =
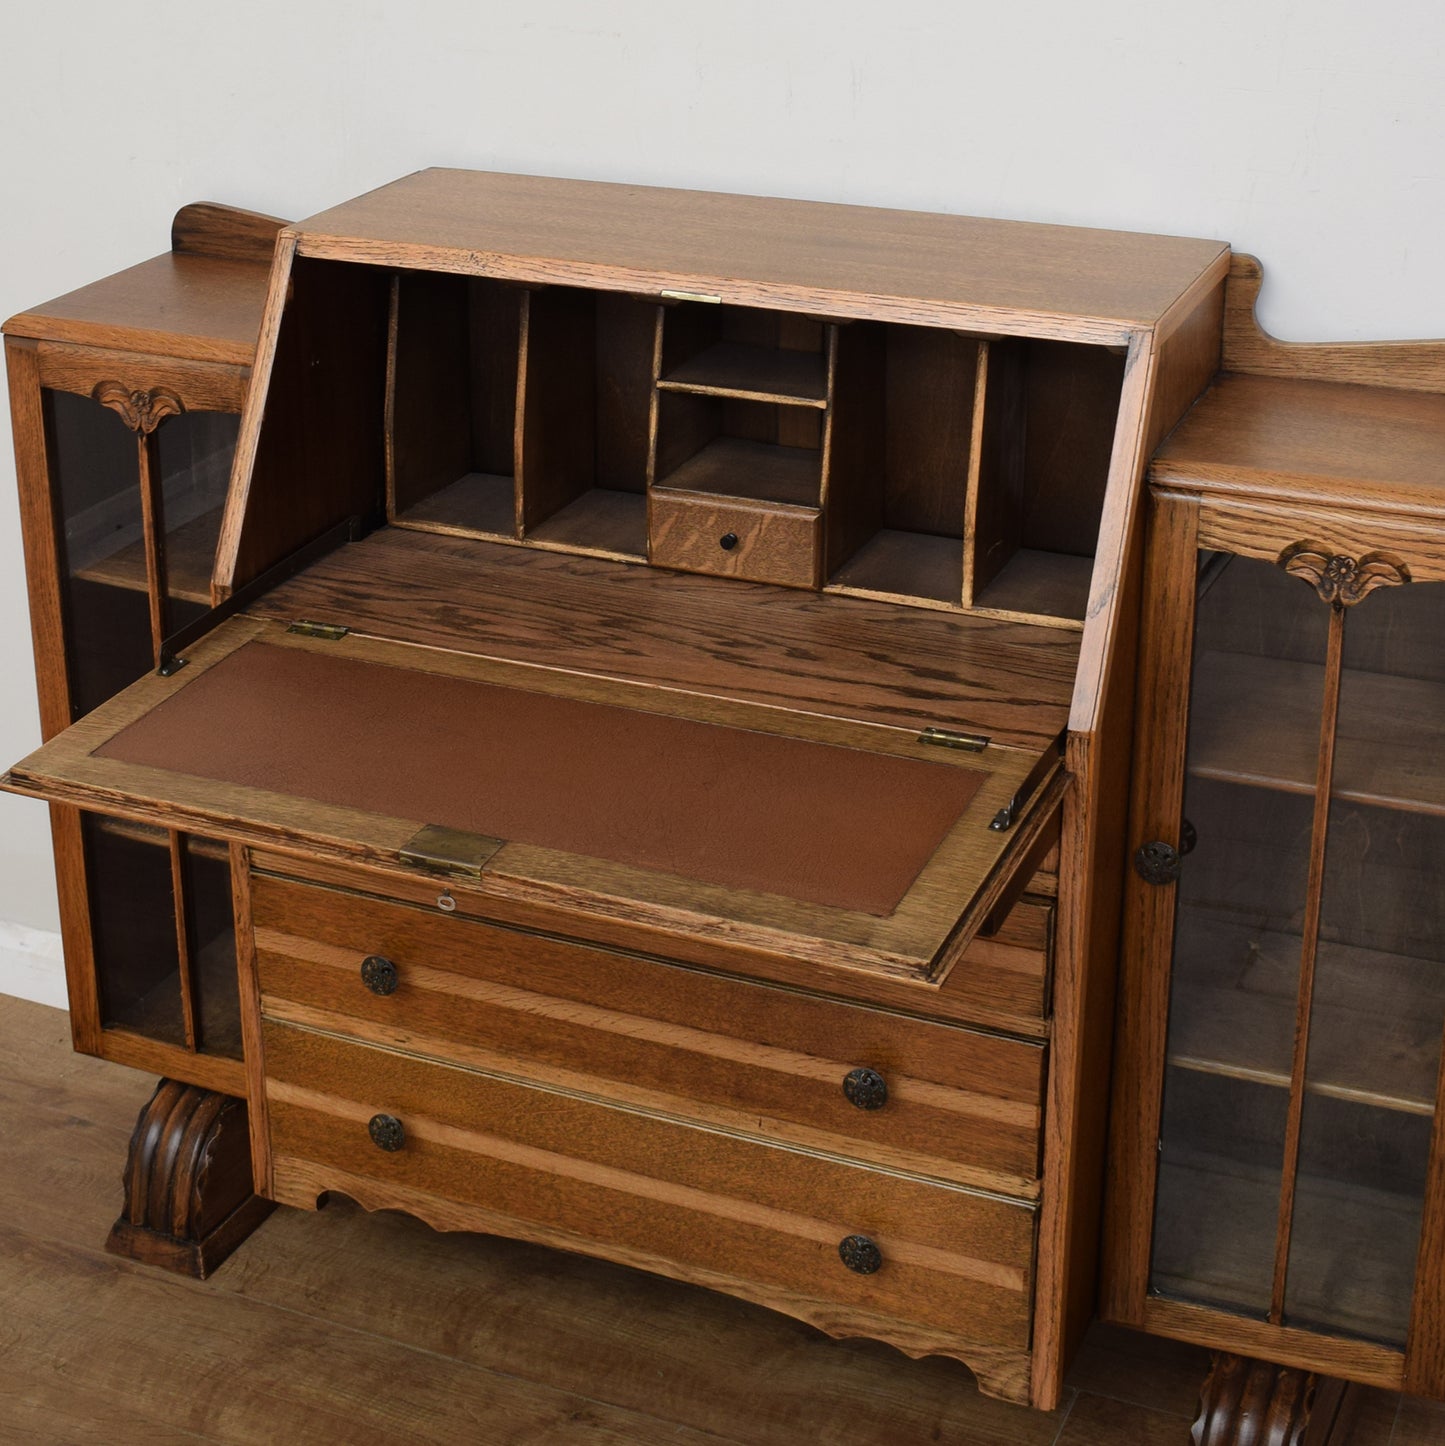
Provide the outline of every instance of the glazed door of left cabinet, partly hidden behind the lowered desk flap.
[[[7,357],[49,737],[152,671],[211,606],[246,370],[43,341],[12,340]],[[229,1080],[224,847],[69,808],[52,820],[77,1044]],[[236,1063],[217,1079],[197,1056]]]

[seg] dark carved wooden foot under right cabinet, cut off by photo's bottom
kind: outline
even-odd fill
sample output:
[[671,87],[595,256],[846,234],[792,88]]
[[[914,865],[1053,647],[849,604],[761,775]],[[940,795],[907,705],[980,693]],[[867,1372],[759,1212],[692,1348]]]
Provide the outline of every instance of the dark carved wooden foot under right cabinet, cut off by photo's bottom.
[[1195,1446],[1345,1446],[1358,1388],[1215,1352],[1199,1391]]

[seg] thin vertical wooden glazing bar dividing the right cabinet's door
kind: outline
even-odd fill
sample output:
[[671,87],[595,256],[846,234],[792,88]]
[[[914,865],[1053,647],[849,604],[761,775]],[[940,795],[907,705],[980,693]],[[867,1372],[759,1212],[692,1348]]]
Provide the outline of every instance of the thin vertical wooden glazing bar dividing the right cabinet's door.
[[1325,846],[1329,834],[1329,790],[1335,775],[1335,722],[1339,716],[1339,678],[1344,669],[1345,610],[1329,610],[1329,651],[1325,656],[1325,697],[1319,720],[1319,772],[1315,779],[1315,827],[1309,840],[1309,882],[1305,891],[1305,933],[1299,959],[1299,998],[1295,1009],[1295,1053],[1290,1064],[1289,1118],[1284,1124],[1284,1167],[1280,1176],[1280,1210],[1274,1235],[1274,1285],[1270,1325],[1284,1320],[1289,1245],[1295,1226],[1295,1183],[1299,1171],[1299,1135],[1305,1116],[1305,1076],[1309,1070],[1309,1012],[1315,1001],[1315,960],[1319,953],[1319,911],[1325,892]]

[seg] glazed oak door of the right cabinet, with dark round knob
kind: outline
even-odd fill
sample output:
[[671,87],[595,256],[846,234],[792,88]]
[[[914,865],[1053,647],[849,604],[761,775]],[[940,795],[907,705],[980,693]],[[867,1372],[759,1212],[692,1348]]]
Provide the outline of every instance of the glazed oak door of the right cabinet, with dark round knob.
[[1219,531],[1156,499],[1107,1306],[1438,1391],[1445,583]]

